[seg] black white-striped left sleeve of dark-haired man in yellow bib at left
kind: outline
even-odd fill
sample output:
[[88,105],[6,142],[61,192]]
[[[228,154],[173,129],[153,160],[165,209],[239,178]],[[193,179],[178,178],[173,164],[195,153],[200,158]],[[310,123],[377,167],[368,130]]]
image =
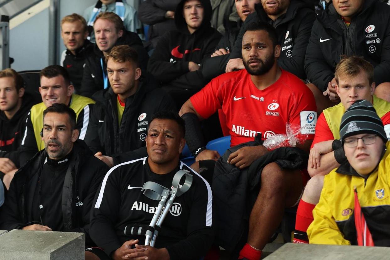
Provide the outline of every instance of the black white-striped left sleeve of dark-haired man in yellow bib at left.
[[[37,141],[35,140],[34,127],[32,126],[30,113],[28,113],[26,120],[26,129],[24,131],[22,143],[20,146],[20,166],[25,165],[25,163],[27,163],[27,161],[38,152]],[[39,131],[41,131],[41,129],[39,129]],[[40,147],[40,149],[44,149],[44,147]]]

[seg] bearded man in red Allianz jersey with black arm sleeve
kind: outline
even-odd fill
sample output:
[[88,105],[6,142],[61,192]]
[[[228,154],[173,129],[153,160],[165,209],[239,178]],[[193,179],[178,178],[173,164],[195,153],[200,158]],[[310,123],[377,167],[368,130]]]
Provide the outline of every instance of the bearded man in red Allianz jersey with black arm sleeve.
[[[308,134],[308,140],[296,147],[308,152],[317,120],[316,104],[299,78],[280,69],[277,63],[280,53],[275,29],[266,23],[252,23],[246,28],[242,42],[245,70],[218,76],[184,103],[179,115],[186,122],[186,141],[196,161],[219,157],[218,152],[206,149],[199,126],[199,120],[218,109],[226,115],[232,147],[259,135],[268,138],[285,134],[286,123],[290,122],[304,127],[302,133]],[[219,159],[218,164],[230,164],[246,174],[248,166],[268,152],[263,145],[245,146],[232,152],[227,162]],[[264,166],[261,187],[255,194],[257,200],[248,208],[250,211],[253,206],[250,216],[246,216],[248,239],[239,259],[260,259],[261,250],[282,220],[284,208],[298,202],[307,176],[301,170],[282,169],[277,163]]]

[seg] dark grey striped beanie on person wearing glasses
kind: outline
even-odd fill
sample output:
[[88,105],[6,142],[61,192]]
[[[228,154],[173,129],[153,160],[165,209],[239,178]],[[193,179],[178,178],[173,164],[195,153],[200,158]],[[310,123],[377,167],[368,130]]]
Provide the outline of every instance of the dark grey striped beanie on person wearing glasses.
[[358,100],[350,106],[341,118],[340,137],[342,143],[345,138],[355,134],[376,134],[387,142],[387,136],[382,120],[375,108],[367,100]]

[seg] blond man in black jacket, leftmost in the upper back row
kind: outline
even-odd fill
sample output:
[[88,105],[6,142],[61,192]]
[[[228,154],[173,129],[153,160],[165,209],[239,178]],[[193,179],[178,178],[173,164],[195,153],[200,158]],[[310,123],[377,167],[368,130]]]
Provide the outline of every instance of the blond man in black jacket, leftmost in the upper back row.
[[70,14],[62,18],[61,38],[66,50],[61,55],[61,66],[69,73],[76,94],[80,92],[86,55],[92,48],[87,37],[87,22],[82,16]]

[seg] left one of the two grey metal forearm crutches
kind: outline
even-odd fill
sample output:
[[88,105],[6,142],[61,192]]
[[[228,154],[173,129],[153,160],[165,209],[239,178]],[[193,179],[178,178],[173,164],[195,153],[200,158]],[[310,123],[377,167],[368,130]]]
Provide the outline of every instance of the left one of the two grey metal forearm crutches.
[[142,191],[144,195],[150,198],[151,200],[160,200],[157,206],[156,212],[154,212],[153,218],[147,227],[145,234],[145,246],[149,246],[152,240],[152,235],[154,233],[154,226],[156,225],[158,218],[160,217],[161,211],[165,206],[165,202],[170,194],[170,190],[156,182],[145,182],[142,186]]

